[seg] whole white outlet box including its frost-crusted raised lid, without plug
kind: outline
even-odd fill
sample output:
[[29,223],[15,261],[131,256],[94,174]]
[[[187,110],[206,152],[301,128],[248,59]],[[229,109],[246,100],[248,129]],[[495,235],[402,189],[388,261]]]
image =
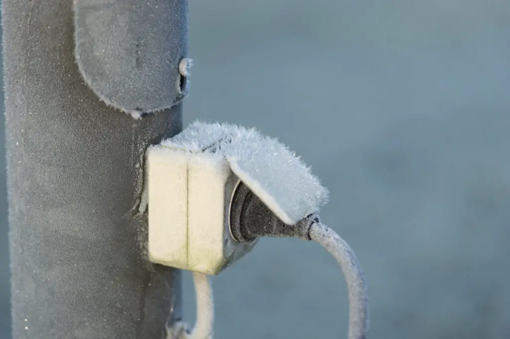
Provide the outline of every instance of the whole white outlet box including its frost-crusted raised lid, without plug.
[[327,201],[294,152],[254,129],[196,122],[146,160],[149,258],[167,266],[217,274],[251,250],[228,225],[239,180],[287,224]]

